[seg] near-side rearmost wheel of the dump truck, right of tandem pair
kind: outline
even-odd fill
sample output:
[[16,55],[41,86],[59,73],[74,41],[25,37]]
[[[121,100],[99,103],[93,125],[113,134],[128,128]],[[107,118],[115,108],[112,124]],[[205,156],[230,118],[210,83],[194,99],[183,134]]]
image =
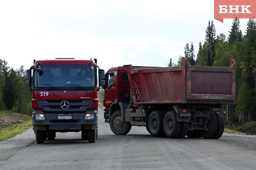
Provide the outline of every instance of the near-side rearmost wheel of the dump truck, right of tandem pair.
[[176,119],[176,112],[168,111],[164,117],[164,132],[168,138],[176,138],[180,134],[181,122]]

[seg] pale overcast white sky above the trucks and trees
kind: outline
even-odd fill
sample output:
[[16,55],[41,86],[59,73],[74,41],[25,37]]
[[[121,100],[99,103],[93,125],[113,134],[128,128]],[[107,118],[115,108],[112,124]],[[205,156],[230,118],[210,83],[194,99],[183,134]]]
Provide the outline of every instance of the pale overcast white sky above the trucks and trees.
[[[214,0],[1,0],[0,59],[13,69],[33,60],[97,58],[111,67],[165,67],[193,42],[204,43],[208,22],[226,37],[232,19],[214,19]],[[248,19],[240,19],[243,35]]]

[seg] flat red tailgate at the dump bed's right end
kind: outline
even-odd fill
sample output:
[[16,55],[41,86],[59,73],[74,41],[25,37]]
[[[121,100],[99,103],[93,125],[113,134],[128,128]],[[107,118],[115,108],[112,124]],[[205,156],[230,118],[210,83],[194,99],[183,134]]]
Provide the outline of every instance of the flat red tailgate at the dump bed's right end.
[[187,102],[235,102],[235,63],[232,67],[188,66]]

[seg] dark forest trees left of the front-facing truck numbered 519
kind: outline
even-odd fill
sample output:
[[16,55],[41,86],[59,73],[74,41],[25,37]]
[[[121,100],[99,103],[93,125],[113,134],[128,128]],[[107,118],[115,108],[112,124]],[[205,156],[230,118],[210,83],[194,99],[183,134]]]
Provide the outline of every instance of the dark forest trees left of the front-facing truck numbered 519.
[[26,86],[26,70],[23,66],[14,70],[7,61],[0,59],[0,82],[0,111],[31,115],[32,92]]

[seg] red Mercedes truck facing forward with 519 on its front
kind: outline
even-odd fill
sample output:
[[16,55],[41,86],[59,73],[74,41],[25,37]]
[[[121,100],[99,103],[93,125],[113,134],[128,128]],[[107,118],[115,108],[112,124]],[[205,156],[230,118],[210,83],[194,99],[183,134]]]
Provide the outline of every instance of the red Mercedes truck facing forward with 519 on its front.
[[81,131],[83,140],[97,140],[97,91],[104,85],[104,70],[98,69],[97,86],[97,67],[96,59],[34,60],[26,71],[26,85],[33,91],[32,122],[37,143],[54,140],[56,132]]

